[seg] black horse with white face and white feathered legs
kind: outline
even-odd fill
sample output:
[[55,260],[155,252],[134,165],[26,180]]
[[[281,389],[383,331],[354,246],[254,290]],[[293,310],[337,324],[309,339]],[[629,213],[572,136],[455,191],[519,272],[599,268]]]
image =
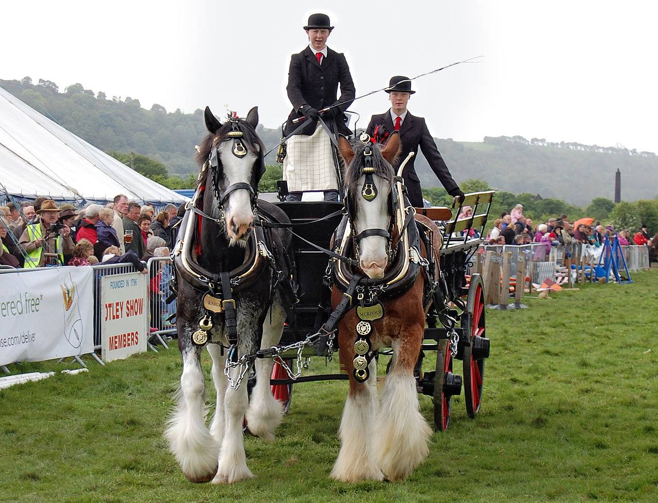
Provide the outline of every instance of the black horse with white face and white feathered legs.
[[[192,204],[174,247],[178,281],[176,328],[182,354],[178,404],[165,437],[182,471],[193,482],[235,483],[253,474],[243,445],[243,419],[249,431],[272,439],[282,420],[282,405],[270,391],[272,359],[255,361],[257,383],[247,396],[249,368],[226,366],[227,357],[254,354],[278,344],[291,303],[281,283],[288,275],[282,253],[290,237],[281,229],[255,226],[258,207],[290,223],[274,205],[257,201],[265,171],[264,146],[255,132],[258,109],[246,119],[220,123],[205,109],[209,133],[197,161],[202,166]],[[205,383],[200,358],[213,360],[216,410],[205,424]],[[236,386],[239,383],[239,386]],[[231,384],[231,385],[229,385]],[[235,388],[235,389],[234,389]]]

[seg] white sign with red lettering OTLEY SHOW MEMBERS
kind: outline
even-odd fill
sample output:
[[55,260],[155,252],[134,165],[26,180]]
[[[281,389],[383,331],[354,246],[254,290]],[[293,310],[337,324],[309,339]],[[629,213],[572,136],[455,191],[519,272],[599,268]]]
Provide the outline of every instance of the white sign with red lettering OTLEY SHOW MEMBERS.
[[148,275],[126,273],[101,278],[101,357],[105,361],[146,351]]

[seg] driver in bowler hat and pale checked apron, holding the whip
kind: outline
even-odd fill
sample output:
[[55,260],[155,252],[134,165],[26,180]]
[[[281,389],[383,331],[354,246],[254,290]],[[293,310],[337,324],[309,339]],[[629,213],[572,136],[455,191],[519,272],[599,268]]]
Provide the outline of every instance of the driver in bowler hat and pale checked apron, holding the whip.
[[[332,30],[329,16],[312,14],[304,30],[309,46],[301,53],[293,54],[288,70],[288,98],[293,109],[286,122],[284,135],[288,136],[302,122],[293,119],[306,117],[305,126],[286,144],[288,155],[284,159],[283,178],[288,182],[288,200],[299,201],[307,190],[324,191],[326,201],[338,199],[338,179],[334,165],[334,153],[327,132],[318,121],[319,110],[340,103],[322,113],[332,134],[349,136],[343,112],[355,97],[354,82],[349,66],[342,53],[332,51],[326,45]],[[338,86],[341,95],[336,99]]]

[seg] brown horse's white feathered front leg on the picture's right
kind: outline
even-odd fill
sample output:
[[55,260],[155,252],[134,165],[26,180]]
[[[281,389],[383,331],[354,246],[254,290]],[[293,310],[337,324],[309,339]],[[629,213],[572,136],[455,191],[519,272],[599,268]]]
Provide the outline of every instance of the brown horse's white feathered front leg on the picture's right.
[[376,459],[387,479],[405,479],[427,457],[432,429],[418,408],[413,374],[393,367],[386,376],[375,431]]

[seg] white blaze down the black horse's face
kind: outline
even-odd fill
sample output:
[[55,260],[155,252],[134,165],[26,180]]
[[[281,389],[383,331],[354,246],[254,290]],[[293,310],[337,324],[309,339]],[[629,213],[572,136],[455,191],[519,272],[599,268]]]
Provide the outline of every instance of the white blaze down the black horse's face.
[[[233,142],[224,142],[220,146],[218,155],[222,161],[226,187],[236,183],[251,183],[251,167],[257,159],[253,152],[244,157],[236,157],[231,152]],[[229,194],[228,201],[224,203],[226,217],[226,232],[231,238],[231,244],[240,239],[253,225],[253,211],[251,211],[251,194],[246,189],[234,190]]]

